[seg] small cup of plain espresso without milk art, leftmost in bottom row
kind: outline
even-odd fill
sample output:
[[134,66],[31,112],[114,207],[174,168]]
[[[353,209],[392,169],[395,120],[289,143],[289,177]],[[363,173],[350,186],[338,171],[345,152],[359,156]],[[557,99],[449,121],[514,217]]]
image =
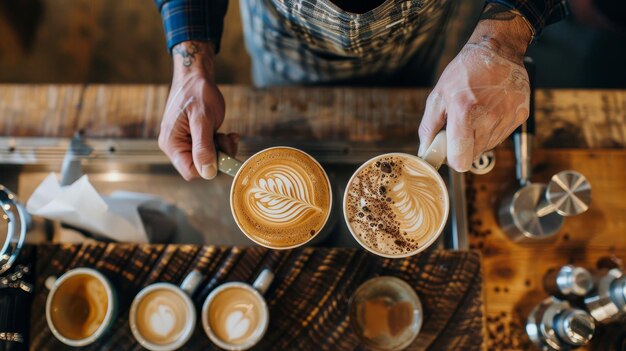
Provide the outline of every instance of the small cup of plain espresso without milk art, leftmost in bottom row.
[[100,272],[72,269],[59,278],[49,277],[46,288],[46,321],[62,343],[80,347],[104,335],[115,321],[118,302],[115,289]]

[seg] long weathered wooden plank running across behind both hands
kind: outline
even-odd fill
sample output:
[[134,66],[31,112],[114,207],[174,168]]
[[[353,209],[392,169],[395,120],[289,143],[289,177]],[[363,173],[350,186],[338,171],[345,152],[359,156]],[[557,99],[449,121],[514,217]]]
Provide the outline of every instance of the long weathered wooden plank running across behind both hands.
[[[427,89],[224,85],[222,131],[246,137],[417,143]],[[0,135],[156,138],[165,85],[0,85]],[[626,147],[626,90],[538,90],[537,145]]]

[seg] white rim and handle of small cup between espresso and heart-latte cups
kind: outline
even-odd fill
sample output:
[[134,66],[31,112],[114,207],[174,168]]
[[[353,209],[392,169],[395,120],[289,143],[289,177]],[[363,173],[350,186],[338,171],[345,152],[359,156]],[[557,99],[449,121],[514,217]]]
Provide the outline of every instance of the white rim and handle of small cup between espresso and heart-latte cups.
[[[193,335],[193,331],[196,327],[196,308],[191,301],[190,296],[193,295],[194,291],[200,285],[202,281],[202,274],[199,271],[192,271],[189,273],[180,286],[176,286],[171,283],[155,283],[148,285],[143,288],[133,299],[133,303],[130,305],[130,312],[128,321],[130,324],[130,330],[135,337],[135,340],[141,344],[141,346],[145,347],[151,351],[171,351],[181,348]],[[137,326],[137,309],[139,308],[139,303],[146,297],[149,293],[154,291],[170,291],[180,296],[180,298],[184,301],[185,307],[187,309],[187,319],[185,321],[185,329],[182,335],[176,339],[175,341],[163,345],[163,344],[155,344],[147,340]]]

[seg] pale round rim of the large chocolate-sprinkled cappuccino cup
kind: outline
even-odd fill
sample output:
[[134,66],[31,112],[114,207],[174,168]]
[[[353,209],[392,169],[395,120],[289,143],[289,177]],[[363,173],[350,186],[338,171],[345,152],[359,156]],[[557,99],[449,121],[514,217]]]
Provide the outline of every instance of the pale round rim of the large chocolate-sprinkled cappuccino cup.
[[[387,156],[401,156],[401,157],[407,157],[413,160],[416,160],[417,162],[420,162],[422,165],[424,165],[430,172],[432,172],[433,174],[436,175],[436,180],[437,183],[439,183],[439,186],[441,187],[441,189],[443,190],[443,198],[445,199],[445,206],[444,206],[444,215],[442,217],[441,223],[439,224],[439,228],[437,229],[437,234],[433,235],[428,241],[426,241],[426,243],[420,245],[417,250],[415,251],[411,251],[411,252],[407,252],[401,255],[389,255],[389,254],[385,254],[385,253],[381,253],[381,252],[376,252],[374,249],[370,248],[369,246],[365,245],[365,243],[363,243],[361,241],[361,239],[358,237],[358,235],[356,235],[354,233],[354,230],[352,229],[352,226],[350,226],[350,221],[348,220],[348,212],[346,211],[346,199],[348,198],[348,191],[350,190],[350,184],[352,184],[352,181],[354,180],[354,177],[361,172],[361,170],[363,170],[363,168],[365,168],[367,165],[369,165],[372,161],[382,158],[382,157],[387,157]],[[406,257],[411,257],[414,255],[417,255],[418,253],[428,249],[437,239],[439,239],[439,237],[441,236],[441,233],[443,233],[444,228],[446,227],[446,223],[448,222],[448,215],[450,214],[450,196],[448,194],[448,187],[446,186],[446,183],[443,181],[443,178],[441,177],[441,175],[439,174],[439,172],[428,162],[426,162],[425,160],[423,160],[422,158],[415,156],[415,155],[411,155],[411,154],[407,154],[407,153],[403,153],[403,152],[390,152],[390,153],[386,153],[386,154],[381,154],[378,156],[374,156],[372,158],[370,158],[369,160],[363,162],[363,164],[361,164],[361,166],[359,166],[359,168],[357,168],[356,171],[354,171],[354,173],[352,174],[352,176],[350,177],[350,179],[348,180],[348,183],[346,185],[346,190],[343,193],[343,202],[342,202],[342,212],[343,212],[343,219],[346,223],[346,226],[348,227],[348,230],[350,231],[350,234],[352,235],[352,237],[354,238],[354,240],[357,241],[357,243],[359,243],[359,245],[361,245],[361,247],[363,247],[364,249],[366,249],[367,251],[377,255],[377,256],[381,256],[381,257],[385,257],[385,258],[406,258]]]

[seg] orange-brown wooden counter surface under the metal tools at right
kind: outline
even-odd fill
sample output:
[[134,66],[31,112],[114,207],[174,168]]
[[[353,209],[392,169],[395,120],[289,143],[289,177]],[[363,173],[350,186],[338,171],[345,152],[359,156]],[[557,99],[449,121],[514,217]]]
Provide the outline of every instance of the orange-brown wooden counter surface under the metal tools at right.
[[[536,150],[533,181],[547,182],[565,169],[583,173],[592,186],[587,212],[567,218],[556,241],[519,245],[500,230],[495,216],[501,196],[514,185],[511,150],[499,149],[496,167],[468,175],[470,247],[483,255],[488,349],[528,349],[524,331],[529,310],[547,297],[542,278],[548,269],[573,263],[594,269],[599,258],[626,260],[626,150]],[[590,349],[606,350],[599,338]]]

